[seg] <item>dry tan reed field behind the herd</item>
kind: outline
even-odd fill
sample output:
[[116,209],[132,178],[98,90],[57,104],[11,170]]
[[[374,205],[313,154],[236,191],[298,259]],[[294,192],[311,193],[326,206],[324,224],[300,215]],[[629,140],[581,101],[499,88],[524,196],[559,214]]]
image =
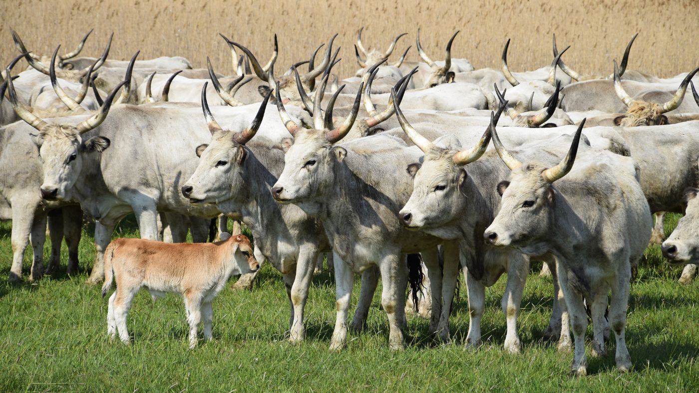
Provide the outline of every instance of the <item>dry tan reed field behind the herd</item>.
[[310,56],[317,45],[339,33],[342,46],[340,76],[354,73],[356,30],[365,26],[365,46],[382,50],[406,32],[391,59],[413,45],[408,59],[417,59],[415,33],[422,29],[422,45],[433,59],[455,30],[454,57],[469,59],[476,68],[498,67],[506,38],[512,38],[508,60],[513,71],[533,70],[552,60],[551,34],[559,45],[572,45],[563,59],[581,73],[611,73],[629,38],[638,31],[629,67],[670,76],[696,67],[699,59],[699,3],[696,0],[531,0],[510,1],[2,1],[4,40],[0,59],[7,62],[17,50],[8,27],[22,36],[29,50],[50,54],[58,44],[74,47],[94,28],[83,55],[99,56],[110,32],[115,42],[110,57],[140,59],[187,57],[195,67],[214,61],[217,71],[231,73],[225,34],[261,59],[271,55],[278,34],[278,73]]

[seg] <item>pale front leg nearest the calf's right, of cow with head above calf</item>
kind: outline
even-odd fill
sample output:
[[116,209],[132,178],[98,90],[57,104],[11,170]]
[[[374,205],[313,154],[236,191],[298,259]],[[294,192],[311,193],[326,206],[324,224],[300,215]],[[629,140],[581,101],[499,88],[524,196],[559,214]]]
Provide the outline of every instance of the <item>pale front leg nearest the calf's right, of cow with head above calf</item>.
[[308,289],[313,279],[313,265],[318,256],[322,258],[315,247],[303,248],[298,253],[296,262],[296,278],[291,286],[291,307],[294,309],[294,320],[291,322],[289,341],[296,343],[305,340],[305,325],[303,322],[303,310],[308,300]]

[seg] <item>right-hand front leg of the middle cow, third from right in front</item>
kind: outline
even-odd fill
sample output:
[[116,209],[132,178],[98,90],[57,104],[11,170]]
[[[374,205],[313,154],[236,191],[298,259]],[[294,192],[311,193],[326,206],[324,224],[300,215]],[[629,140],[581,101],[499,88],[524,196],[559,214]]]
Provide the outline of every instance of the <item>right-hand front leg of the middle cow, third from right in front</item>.
[[401,255],[386,255],[379,263],[381,271],[381,306],[389,319],[389,346],[391,350],[403,350],[401,316],[405,315],[405,286],[408,284],[408,269]]

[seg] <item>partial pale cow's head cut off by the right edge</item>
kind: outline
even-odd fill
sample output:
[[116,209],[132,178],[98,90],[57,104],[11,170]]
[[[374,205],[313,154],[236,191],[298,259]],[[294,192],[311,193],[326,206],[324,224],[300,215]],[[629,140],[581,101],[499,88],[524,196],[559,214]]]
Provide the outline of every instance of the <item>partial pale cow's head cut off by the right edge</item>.
[[672,231],[661,249],[663,256],[672,264],[699,262],[699,188],[687,188],[684,191],[686,209],[684,217],[679,219],[677,228]]

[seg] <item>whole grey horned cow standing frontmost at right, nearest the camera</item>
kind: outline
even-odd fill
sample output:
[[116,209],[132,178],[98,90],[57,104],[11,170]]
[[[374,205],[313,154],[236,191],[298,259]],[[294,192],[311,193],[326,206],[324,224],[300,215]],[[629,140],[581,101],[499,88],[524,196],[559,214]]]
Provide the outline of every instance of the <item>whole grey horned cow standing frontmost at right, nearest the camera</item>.
[[568,155],[546,168],[536,160],[521,163],[503,147],[493,128],[493,144],[512,173],[509,181],[497,186],[502,194],[500,211],[483,237],[491,246],[556,260],[575,338],[574,375],[587,373],[583,299],[591,309],[593,355],[604,356],[605,309],[611,290],[609,320],[617,341],[617,369],[627,372],[632,366],[624,334],[631,266],[646,249],[652,218],[633,159],[598,151],[583,156],[572,171],[581,135],[582,124]]

